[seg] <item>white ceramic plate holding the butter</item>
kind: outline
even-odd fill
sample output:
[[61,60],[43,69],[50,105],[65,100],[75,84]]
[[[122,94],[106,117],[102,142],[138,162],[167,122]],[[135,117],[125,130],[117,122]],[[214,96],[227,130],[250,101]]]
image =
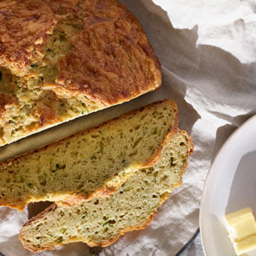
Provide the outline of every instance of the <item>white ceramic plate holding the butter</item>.
[[207,176],[200,206],[200,234],[207,256],[236,255],[223,218],[244,207],[256,213],[256,115],[229,137]]

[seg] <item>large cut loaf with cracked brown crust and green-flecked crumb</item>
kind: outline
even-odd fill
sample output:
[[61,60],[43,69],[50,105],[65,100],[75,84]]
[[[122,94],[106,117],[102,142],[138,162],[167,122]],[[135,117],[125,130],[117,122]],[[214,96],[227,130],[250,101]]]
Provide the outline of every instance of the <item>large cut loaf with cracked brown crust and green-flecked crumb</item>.
[[161,84],[141,24],[115,0],[2,0],[0,10],[0,146]]

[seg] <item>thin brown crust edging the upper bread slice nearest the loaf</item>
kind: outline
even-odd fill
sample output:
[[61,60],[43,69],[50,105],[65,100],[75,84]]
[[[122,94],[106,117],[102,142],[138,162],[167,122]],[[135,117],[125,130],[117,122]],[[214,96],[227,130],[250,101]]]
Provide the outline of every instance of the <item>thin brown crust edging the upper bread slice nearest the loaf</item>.
[[[102,124],[100,124],[99,126],[97,126],[95,128],[87,128],[87,129],[85,129],[82,132],[76,133],[75,135],[70,135],[69,137],[64,138],[64,139],[62,139],[60,141],[55,141],[55,142],[53,142],[53,143],[51,143],[51,144],[49,144],[47,146],[44,146],[42,148],[36,148],[35,150],[32,150],[29,153],[19,155],[16,158],[13,158],[13,159],[10,159],[10,160],[7,160],[7,161],[3,161],[3,162],[0,163],[0,174],[1,174],[1,170],[4,170],[4,168],[10,167],[10,166],[14,165],[16,162],[23,161],[23,160],[27,159],[28,157],[30,157],[31,154],[42,152],[42,151],[46,150],[47,148],[55,148],[56,146],[58,146],[58,145],[60,145],[62,143],[65,143],[66,141],[69,141],[69,139],[71,139],[73,137],[84,135],[85,133],[89,133],[89,132],[91,132],[91,131],[93,131],[93,130],[95,130],[97,128],[102,128],[103,126],[111,125],[111,123],[113,123],[113,122],[115,123],[115,121],[117,121],[117,120],[125,119],[126,117],[128,117],[130,115],[136,115],[136,113],[139,113],[139,112],[143,111],[143,109],[145,109],[145,108],[154,108],[155,105],[158,105],[161,102],[168,102],[169,104],[171,104],[173,106],[173,109],[174,109],[174,112],[175,112],[175,115],[174,115],[175,116],[174,117],[174,126],[171,127],[167,131],[167,135],[165,136],[164,140],[162,141],[161,146],[154,153],[152,158],[147,163],[145,163],[142,166],[142,167],[152,167],[152,166],[154,166],[154,164],[157,161],[159,161],[161,150],[164,147],[164,145],[166,145],[167,141],[169,141],[172,138],[172,136],[174,134],[176,134],[176,132],[177,132],[177,128],[178,128],[178,108],[177,108],[176,103],[171,101],[171,100],[169,100],[169,99],[158,101],[158,102],[153,102],[153,103],[151,103],[151,104],[149,104],[147,106],[144,106],[144,107],[137,108],[135,110],[129,111],[128,113],[123,114],[121,116],[118,116],[118,117],[116,117],[116,118],[114,118],[112,120],[105,121],[105,122],[103,122]],[[118,184],[118,186],[121,186],[121,184]],[[115,192],[115,190],[117,189],[118,186],[116,186],[116,187],[100,187],[95,192],[93,192],[91,194],[84,195],[84,196],[82,194],[72,194],[72,197],[71,196],[67,197],[67,200],[65,200],[65,202],[67,202],[67,203],[69,203],[71,205],[76,205],[78,202],[82,202],[82,200],[83,201],[91,200],[91,199],[93,199],[97,195],[102,195],[102,196],[110,195],[110,194],[113,194]],[[73,198],[73,200],[72,200],[72,198]],[[19,211],[23,211],[24,207],[26,207],[26,204],[21,203],[21,204],[16,204],[16,205],[10,206],[10,205],[7,205],[7,204],[4,205],[2,203],[2,206],[14,207],[14,208],[16,208]]]

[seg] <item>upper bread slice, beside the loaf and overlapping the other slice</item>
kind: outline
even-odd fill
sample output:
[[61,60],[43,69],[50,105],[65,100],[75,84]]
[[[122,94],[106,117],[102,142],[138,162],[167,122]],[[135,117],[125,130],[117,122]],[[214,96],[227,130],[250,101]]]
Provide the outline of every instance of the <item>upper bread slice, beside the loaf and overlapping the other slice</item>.
[[40,200],[79,203],[115,192],[139,167],[154,165],[176,133],[178,109],[154,102],[0,164],[0,206]]

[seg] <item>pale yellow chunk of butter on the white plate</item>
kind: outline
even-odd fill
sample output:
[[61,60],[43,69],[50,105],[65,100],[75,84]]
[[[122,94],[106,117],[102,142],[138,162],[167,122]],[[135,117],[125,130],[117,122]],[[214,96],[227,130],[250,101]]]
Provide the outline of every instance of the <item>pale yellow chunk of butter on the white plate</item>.
[[240,255],[256,249],[256,222],[251,208],[244,208],[225,216],[229,238]]

